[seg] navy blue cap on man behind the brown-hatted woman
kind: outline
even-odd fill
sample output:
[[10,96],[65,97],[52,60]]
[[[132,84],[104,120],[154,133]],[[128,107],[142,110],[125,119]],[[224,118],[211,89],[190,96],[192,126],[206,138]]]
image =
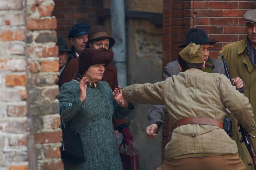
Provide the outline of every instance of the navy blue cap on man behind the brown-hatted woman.
[[69,39],[77,37],[79,35],[87,34],[88,31],[91,29],[91,26],[87,23],[77,23],[73,25],[71,30],[69,31]]

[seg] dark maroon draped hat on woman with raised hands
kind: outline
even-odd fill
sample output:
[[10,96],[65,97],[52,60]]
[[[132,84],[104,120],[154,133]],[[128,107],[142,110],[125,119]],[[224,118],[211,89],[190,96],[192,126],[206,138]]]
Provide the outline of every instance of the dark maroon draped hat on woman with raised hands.
[[84,75],[91,65],[94,64],[105,64],[108,65],[114,58],[114,53],[110,50],[94,48],[84,48],[81,55],[79,56],[79,73]]

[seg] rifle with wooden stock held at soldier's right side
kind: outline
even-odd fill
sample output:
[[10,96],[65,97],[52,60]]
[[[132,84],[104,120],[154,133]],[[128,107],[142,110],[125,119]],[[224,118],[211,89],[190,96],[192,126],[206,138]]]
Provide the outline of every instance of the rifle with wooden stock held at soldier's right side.
[[[222,58],[222,61],[223,61],[223,65],[224,65],[226,76],[231,81],[231,78],[230,78],[230,75],[229,75],[229,70],[227,68],[227,64],[226,64],[225,58],[224,58],[223,55],[221,55],[221,58]],[[232,83],[232,85],[234,85],[234,83]],[[253,141],[251,139],[251,137],[255,138],[255,136],[252,135],[251,133],[248,133],[243,128],[241,123],[239,123],[239,127],[240,127],[239,132],[241,132],[241,135],[242,135],[240,142],[241,143],[244,142],[247,150],[249,151],[249,153],[251,155],[251,158],[253,159],[254,170],[256,170],[256,152],[255,152],[255,149],[254,149],[254,146],[253,146]],[[251,165],[251,163],[248,163],[248,165]]]

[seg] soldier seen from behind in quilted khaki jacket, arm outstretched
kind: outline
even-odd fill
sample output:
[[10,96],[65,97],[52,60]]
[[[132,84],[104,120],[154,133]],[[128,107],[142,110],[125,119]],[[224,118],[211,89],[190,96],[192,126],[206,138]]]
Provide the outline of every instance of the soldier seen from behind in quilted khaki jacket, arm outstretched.
[[[255,128],[247,97],[225,75],[205,73],[202,46],[190,43],[178,56],[180,73],[154,84],[115,89],[115,98],[165,105],[175,129],[159,170],[244,170],[237,145],[223,130],[228,108],[243,127]],[[122,102],[120,100],[120,102]]]

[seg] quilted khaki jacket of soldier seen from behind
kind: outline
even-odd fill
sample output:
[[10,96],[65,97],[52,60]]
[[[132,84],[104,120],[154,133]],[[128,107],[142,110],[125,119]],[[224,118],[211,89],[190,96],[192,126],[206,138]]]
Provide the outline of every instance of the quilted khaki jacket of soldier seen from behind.
[[[222,121],[227,107],[246,130],[255,127],[248,98],[218,73],[191,68],[162,82],[125,87],[123,96],[132,103],[165,105],[173,124],[187,117]],[[193,153],[235,154],[237,145],[219,127],[189,124],[175,128],[165,147],[165,158]]]

